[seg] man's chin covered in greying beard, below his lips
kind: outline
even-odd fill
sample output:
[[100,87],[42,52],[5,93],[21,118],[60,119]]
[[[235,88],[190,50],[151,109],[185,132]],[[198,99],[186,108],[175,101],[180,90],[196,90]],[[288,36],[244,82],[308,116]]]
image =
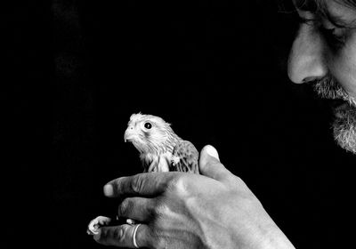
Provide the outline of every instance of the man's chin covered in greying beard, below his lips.
[[356,108],[345,102],[335,108],[334,113],[333,132],[336,143],[356,154]]

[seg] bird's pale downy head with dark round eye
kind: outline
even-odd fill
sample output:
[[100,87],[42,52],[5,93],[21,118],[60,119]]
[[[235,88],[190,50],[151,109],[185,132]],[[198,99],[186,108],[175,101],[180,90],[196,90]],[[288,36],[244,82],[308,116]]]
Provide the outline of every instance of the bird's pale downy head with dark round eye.
[[158,153],[175,139],[170,124],[159,116],[133,114],[125,131],[125,141],[131,141],[140,153]]

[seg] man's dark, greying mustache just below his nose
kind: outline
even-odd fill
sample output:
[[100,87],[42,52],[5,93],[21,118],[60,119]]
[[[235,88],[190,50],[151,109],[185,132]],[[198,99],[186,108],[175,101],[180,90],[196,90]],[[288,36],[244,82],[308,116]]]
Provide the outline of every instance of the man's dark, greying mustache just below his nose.
[[324,76],[312,83],[312,88],[321,98],[328,100],[344,100],[356,108],[356,99],[352,98],[339,84],[334,76]]

